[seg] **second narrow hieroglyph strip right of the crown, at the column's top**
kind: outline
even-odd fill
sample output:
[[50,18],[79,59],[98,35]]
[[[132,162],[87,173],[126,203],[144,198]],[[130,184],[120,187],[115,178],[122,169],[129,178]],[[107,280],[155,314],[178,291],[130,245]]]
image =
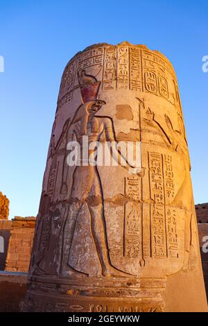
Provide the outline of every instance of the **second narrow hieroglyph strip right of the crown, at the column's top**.
[[117,88],[129,89],[129,56],[128,47],[117,48]]

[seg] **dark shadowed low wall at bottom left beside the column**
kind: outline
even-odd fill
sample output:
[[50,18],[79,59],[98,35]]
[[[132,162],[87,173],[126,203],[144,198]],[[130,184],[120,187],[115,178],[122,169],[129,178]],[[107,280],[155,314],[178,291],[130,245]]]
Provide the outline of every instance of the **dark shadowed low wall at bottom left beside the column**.
[[26,294],[27,273],[0,271],[0,312],[18,312]]

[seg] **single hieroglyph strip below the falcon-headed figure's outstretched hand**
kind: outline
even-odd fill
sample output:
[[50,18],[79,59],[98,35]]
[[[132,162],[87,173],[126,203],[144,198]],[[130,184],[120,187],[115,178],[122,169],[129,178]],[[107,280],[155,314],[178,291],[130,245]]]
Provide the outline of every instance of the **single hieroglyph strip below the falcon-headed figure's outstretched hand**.
[[124,255],[137,258],[141,254],[141,203],[139,203],[139,177],[130,175],[125,178],[125,196],[130,199],[125,204]]

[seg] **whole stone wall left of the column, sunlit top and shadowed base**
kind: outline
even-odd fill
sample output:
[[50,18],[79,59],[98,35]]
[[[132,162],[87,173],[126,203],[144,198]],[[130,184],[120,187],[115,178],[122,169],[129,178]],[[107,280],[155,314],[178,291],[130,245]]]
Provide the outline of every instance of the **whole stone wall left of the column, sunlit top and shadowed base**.
[[27,273],[22,272],[28,271],[34,230],[34,217],[0,221],[4,245],[3,252],[0,250],[0,312],[21,309],[27,284]]

